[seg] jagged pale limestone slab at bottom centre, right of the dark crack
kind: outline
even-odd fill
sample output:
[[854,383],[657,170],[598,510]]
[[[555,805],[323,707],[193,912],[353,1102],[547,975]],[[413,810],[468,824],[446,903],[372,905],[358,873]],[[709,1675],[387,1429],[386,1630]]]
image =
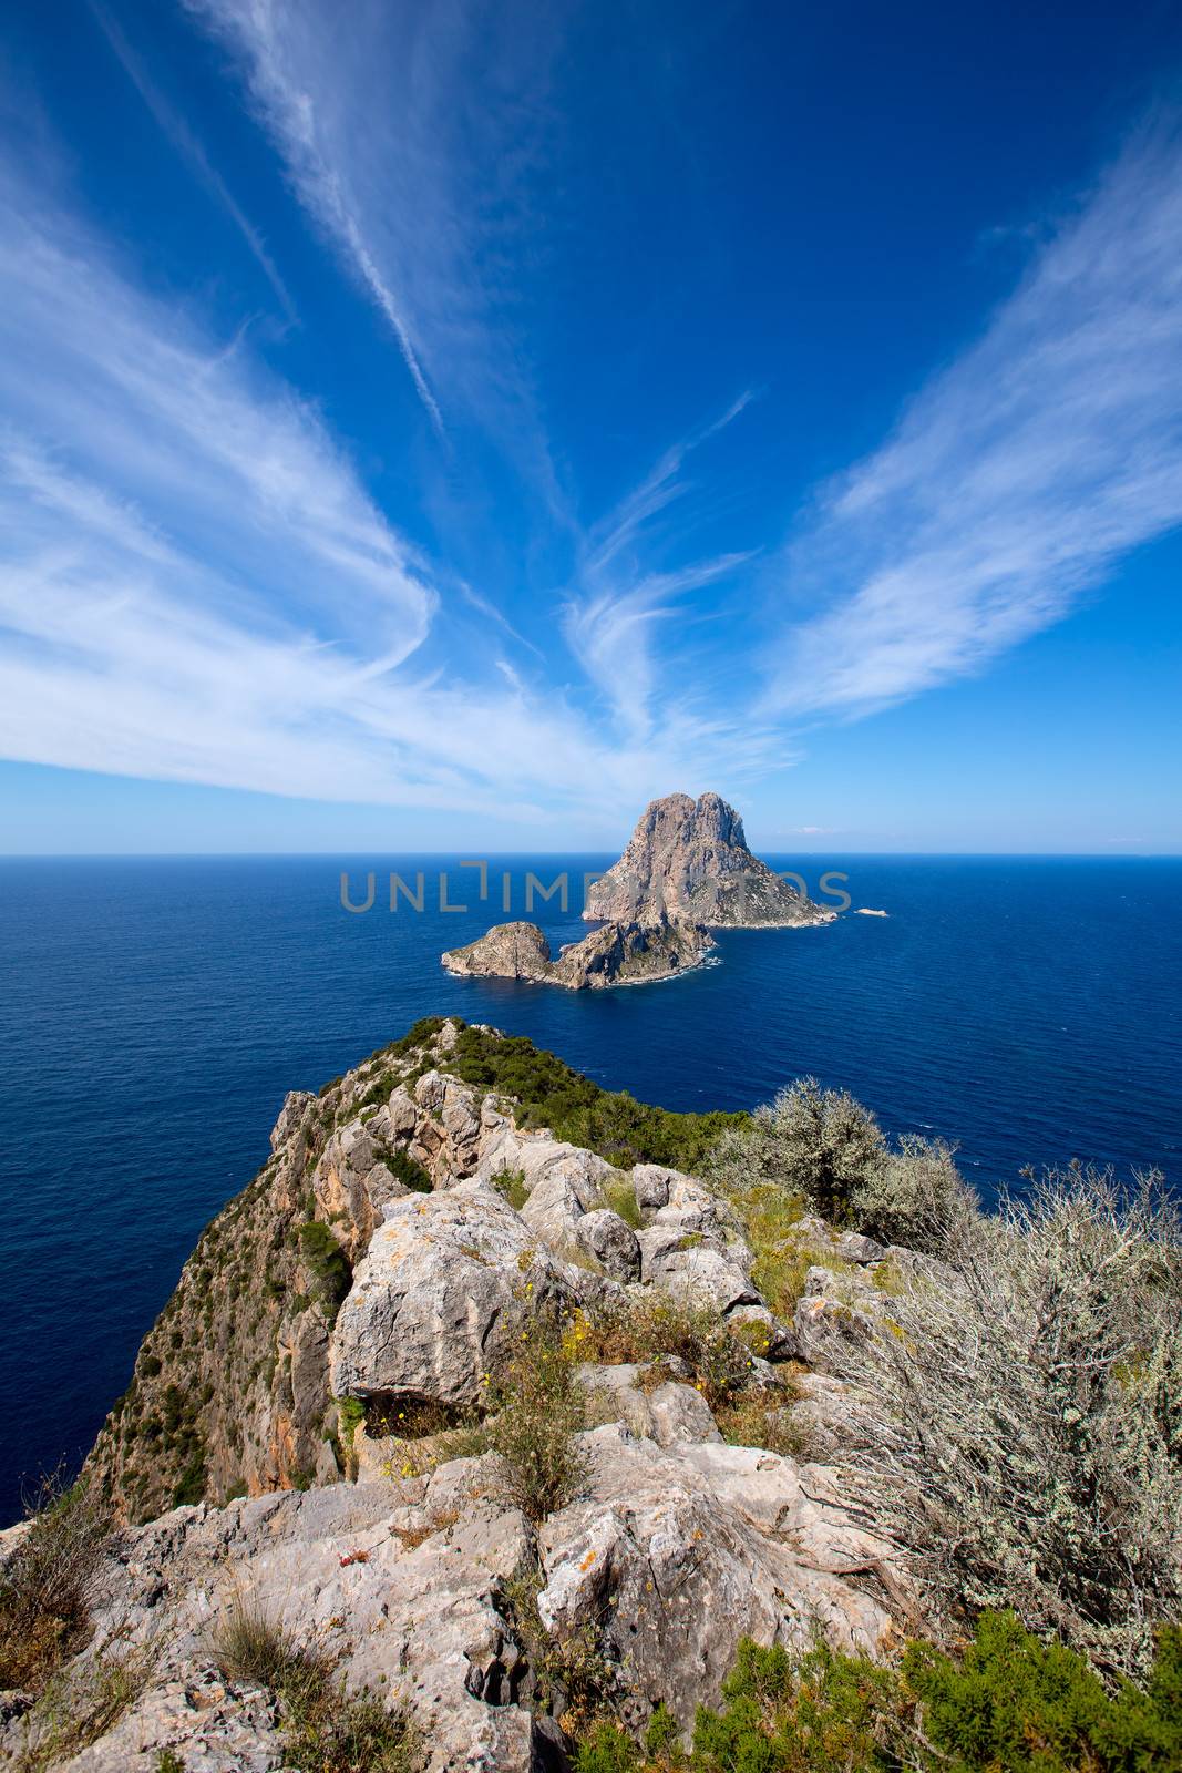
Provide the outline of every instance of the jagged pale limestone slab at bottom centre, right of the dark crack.
[[838,1573],[842,1558],[867,1560],[868,1535],[836,1502],[812,1502],[792,1461],[714,1443],[661,1450],[611,1425],[585,1440],[588,1495],[539,1534],[539,1612],[558,1631],[608,1622],[636,1722],[663,1700],[689,1730],[744,1635],[805,1649],[820,1626],[870,1654],[890,1640],[890,1610]]

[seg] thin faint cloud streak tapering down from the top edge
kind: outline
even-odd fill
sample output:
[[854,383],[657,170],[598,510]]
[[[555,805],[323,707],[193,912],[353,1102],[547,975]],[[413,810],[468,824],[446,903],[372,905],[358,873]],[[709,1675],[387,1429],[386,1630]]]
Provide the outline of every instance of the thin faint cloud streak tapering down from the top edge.
[[[289,181],[383,314],[432,426],[532,406],[498,298],[564,7],[183,0],[230,53]],[[478,98],[473,96],[473,82]],[[516,422],[523,422],[521,411]],[[535,415],[526,420],[535,424]],[[532,440],[544,473],[544,443]]]

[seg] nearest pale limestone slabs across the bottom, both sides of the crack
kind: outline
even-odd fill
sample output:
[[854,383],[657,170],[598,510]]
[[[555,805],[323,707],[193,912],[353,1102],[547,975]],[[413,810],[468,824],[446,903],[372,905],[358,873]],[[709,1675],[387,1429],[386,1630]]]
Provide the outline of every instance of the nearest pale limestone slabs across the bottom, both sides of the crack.
[[[650,1404],[661,1410],[656,1394]],[[275,1706],[218,1675],[218,1628],[234,1612],[331,1660],[353,1693],[409,1707],[429,1773],[564,1764],[514,1601],[523,1571],[535,1573],[540,1626],[558,1644],[594,1638],[638,1727],[663,1702],[689,1729],[698,1702],[718,1702],[744,1633],[805,1649],[820,1628],[883,1652],[886,1592],[906,1578],[847,1512],[836,1473],[727,1447],[689,1411],[680,1425],[689,1433],[659,1445],[617,1411],[585,1433],[581,1493],[539,1532],[500,1498],[487,1454],[135,1528],[103,1571],[87,1656],[142,1670],[142,1690],[69,1773],[156,1773],[165,1752],[213,1773],[289,1766]],[[35,1730],[18,1718],[0,1753]]]

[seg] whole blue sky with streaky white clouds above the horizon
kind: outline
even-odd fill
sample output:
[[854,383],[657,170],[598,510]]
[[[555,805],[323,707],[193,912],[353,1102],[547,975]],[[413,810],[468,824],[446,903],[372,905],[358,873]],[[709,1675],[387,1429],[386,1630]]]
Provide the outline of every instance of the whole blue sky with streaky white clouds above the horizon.
[[1182,851],[1168,5],[58,0],[0,846]]

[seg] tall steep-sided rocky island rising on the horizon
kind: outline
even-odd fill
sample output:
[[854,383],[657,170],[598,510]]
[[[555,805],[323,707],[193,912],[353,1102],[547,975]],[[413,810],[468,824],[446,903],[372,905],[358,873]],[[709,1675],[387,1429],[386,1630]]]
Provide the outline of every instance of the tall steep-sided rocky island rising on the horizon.
[[803,897],[753,856],[743,819],[718,794],[666,794],[645,807],[627,849],[587,895],[587,918],[665,913],[707,929],[829,924],[835,913]]

